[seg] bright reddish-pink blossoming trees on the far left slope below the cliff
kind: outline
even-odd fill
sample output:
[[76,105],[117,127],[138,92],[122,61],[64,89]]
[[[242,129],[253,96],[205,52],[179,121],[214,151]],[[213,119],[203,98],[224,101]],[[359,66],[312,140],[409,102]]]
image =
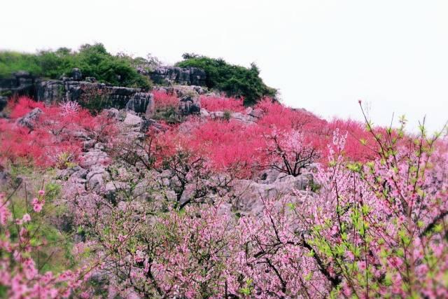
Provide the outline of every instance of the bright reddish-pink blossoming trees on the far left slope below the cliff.
[[[0,120],[0,162],[38,167],[65,168],[78,162],[86,138],[94,142],[111,142],[116,121],[107,113],[92,116],[76,102],[45,106],[27,97],[10,101],[10,119]],[[18,120],[32,109],[40,109],[27,127]]]

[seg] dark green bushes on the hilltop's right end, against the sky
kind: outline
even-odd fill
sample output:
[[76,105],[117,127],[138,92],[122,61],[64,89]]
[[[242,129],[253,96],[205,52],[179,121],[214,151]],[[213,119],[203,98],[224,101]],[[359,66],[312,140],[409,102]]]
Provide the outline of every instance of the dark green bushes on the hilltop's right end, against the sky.
[[250,68],[228,64],[225,60],[186,53],[177,67],[197,67],[207,74],[207,87],[226,92],[230,97],[244,97],[244,104],[255,104],[262,97],[274,97],[276,90],[260,78],[255,64]]

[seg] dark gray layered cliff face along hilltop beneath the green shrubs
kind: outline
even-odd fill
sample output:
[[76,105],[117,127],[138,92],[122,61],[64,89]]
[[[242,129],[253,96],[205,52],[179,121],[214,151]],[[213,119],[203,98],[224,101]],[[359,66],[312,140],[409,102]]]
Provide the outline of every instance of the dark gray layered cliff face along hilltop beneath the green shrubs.
[[[194,67],[185,69],[157,67],[151,72],[139,71],[149,76],[158,85],[188,85],[185,88],[191,89],[195,94],[203,92],[200,86],[204,86],[206,80],[205,72]],[[127,108],[137,113],[145,113],[148,106],[153,104],[153,95],[141,88],[125,88],[97,83],[95,78],[84,78],[79,69],[73,69],[71,77],[64,77],[61,80],[43,80],[31,76],[25,71],[15,73],[10,78],[0,78],[0,111],[6,106],[8,97],[22,95],[33,97],[38,102],[45,102],[45,104],[74,101],[84,106]],[[197,101],[188,99],[184,102],[186,107],[182,109],[183,111],[199,113],[199,108],[196,107],[198,104],[195,104]]]

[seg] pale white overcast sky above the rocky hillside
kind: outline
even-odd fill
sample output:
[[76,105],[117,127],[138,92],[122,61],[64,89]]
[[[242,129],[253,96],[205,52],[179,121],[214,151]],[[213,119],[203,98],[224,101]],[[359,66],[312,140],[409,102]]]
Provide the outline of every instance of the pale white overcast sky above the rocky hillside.
[[284,104],[409,130],[448,120],[448,1],[3,0],[0,49],[104,43],[111,53],[255,62]]

